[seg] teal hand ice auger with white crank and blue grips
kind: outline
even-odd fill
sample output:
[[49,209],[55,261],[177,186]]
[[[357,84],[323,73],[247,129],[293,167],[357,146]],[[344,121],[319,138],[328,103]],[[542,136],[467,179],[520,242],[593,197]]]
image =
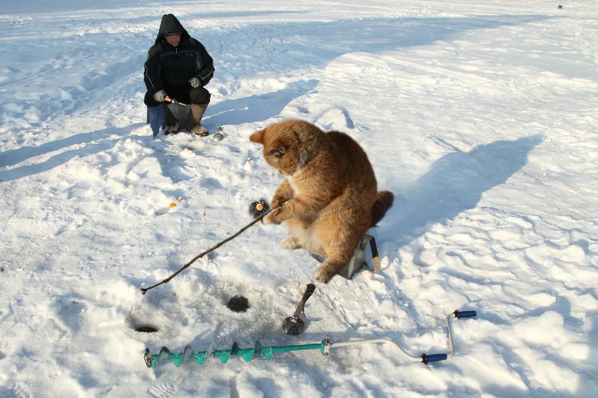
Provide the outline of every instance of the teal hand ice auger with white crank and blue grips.
[[187,345],[185,350],[182,353],[171,353],[167,347],[162,347],[160,353],[157,355],[152,355],[149,353],[149,348],[146,348],[144,359],[145,365],[148,368],[155,368],[158,362],[161,360],[172,360],[175,366],[181,366],[182,362],[187,362],[187,360],[195,359],[199,365],[203,365],[206,361],[206,357],[213,356],[220,359],[222,363],[226,363],[228,359],[233,355],[240,355],[245,362],[249,362],[254,355],[257,354],[264,354],[266,359],[271,359],[272,354],[285,352],[285,351],[300,351],[300,350],[320,350],[320,352],[327,356],[330,353],[330,348],[334,345],[335,347],[347,347],[349,345],[362,345],[362,344],[375,344],[375,343],[390,343],[395,345],[399,348],[399,352],[403,354],[404,357],[410,359],[414,362],[438,362],[441,360],[449,359],[454,354],[454,347],[453,347],[453,330],[451,327],[450,320],[453,318],[461,319],[461,318],[468,318],[476,316],[475,311],[457,311],[455,310],[453,313],[450,313],[446,318],[446,325],[449,331],[449,353],[448,354],[422,354],[421,356],[412,356],[411,354],[407,353],[400,345],[396,344],[394,341],[388,338],[371,338],[366,340],[353,340],[353,341],[345,341],[345,342],[338,342],[338,343],[331,343],[328,340],[328,336],[321,341],[321,343],[316,344],[296,344],[296,345],[279,345],[276,347],[264,347],[260,344],[260,341],[255,341],[255,346],[253,348],[239,348],[236,342],[233,343],[230,350],[212,350],[212,347],[208,348],[206,351],[193,351],[191,345]]

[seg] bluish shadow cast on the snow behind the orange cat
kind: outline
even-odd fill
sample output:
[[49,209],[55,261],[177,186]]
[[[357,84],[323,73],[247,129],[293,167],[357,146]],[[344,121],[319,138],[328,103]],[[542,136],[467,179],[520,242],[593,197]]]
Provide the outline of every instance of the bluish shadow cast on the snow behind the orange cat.
[[406,244],[423,235],[432,224],[446,224],[461,212],[475,208],[482,194],[520,170],[529,152],[541,142],[542,136],[536,134],[444,155],[404,193],[404,200],[396,200],[390,208],[385,220],[398,221],[383,230],[399,236],[387,239]]

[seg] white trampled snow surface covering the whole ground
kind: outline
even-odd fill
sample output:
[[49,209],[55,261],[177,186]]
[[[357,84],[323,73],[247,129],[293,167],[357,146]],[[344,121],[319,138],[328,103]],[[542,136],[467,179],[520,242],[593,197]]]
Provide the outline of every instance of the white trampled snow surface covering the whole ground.
[[[598,1],[558,4],[2,1],[0,397],[598,396]],[[164,13],[215,59],[220,143],[145,125]],[[370,155],[396,195],[371,231],[382,271],[319,285],[286,335],[318,263],[257,225],[141,295],[271,198],[248,137],[281,118]],[[431,365],[380,344],[143,360],[326,335],[442,353],[455,309],[478,316]]]

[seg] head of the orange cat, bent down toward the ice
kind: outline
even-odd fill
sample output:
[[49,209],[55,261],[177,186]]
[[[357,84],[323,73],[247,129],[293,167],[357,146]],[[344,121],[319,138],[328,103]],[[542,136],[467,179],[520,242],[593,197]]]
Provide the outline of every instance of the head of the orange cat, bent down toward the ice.
[[324,132],[298,119],[277,122],[254,132],[249,140],[264,146],[266,162],[283,175],[293,175],[310,161]]

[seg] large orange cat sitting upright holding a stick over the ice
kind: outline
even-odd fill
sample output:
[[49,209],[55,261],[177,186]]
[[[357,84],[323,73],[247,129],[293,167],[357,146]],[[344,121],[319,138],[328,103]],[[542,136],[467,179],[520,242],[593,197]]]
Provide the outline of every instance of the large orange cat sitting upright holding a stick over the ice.
[[313,276],[327,283],[390,208],[392,192],[377,192],[367,155],[343,132],[324,132],[291,119],[271,124],[249,139],[263,144],[266,162],[286,177],[271,207],[289,202],[267,214],[264,224],[286,221],[291,235],[280,242],[282,248],[304,248],[325,257]]

